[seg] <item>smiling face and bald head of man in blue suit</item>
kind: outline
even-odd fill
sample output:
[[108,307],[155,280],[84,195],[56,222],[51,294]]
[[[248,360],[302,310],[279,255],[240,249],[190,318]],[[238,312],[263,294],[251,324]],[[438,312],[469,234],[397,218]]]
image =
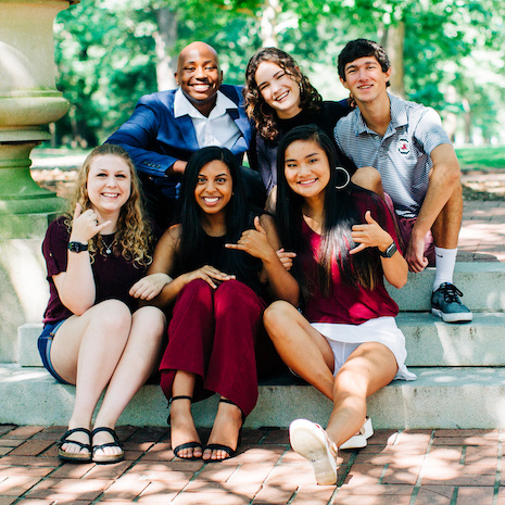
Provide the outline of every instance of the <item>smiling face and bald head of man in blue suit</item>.
[[223,81],[214,49],[203,42],[193,42],[182,49],[175,78],[194,108],[203,115],[209,115],[216,103],[216,93]]

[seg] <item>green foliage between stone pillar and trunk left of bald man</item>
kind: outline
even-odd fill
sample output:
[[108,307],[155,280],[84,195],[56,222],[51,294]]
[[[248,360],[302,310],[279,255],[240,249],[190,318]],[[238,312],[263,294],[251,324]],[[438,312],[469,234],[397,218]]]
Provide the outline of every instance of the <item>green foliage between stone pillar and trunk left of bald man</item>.
[[126,3],[83,0],[56,18],[58,87],[72,104],[58,124],[64,142],[102,142],[155,90],[152,12]]

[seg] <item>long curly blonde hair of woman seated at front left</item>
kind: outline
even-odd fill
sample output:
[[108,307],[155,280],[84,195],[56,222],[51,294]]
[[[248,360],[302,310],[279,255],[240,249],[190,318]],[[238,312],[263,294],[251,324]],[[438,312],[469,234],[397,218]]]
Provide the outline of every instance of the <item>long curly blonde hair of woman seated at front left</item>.
[[[68,231],[73,226],[73,217],[77,203],[83,207],[83,212],[92,209],[91,201],[88,195],[88,174],[93,160],[97,156],[104,155],[118,156],[125,161],[130,171],[130,195],[128,201],[122,206],[119,218],[117,222],[117,231],[113,242],[113,253],[122,254],[128,262],[134,262],[139,266],[148,266],[152,263],[152,247],[153,236],[151,227],[144,218],[144,211],[140,195],[140,184],[137,177],[137,172],[129,154],[121,147],[113,143],[104,143],[94,148],[86,157],[80,171],[77,173],[74,193],[68,200],[68,210],[65,213],[65,225]],[[105,255],[105,244],[97,233],[88,242],[88,250],[91,256],[91,262],[94,261],[97,254]]]

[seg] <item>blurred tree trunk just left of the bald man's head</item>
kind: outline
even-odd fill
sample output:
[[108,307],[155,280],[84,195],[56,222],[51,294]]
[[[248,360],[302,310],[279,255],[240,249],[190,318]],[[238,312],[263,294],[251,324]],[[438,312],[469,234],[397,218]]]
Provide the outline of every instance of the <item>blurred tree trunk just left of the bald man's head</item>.
[[174,54],[177,41],[177,12],[168,8],[156,9],[157,30],[154,31],[156,52],[157,90],[176,87],[174,74],[177,72],[177,55]]

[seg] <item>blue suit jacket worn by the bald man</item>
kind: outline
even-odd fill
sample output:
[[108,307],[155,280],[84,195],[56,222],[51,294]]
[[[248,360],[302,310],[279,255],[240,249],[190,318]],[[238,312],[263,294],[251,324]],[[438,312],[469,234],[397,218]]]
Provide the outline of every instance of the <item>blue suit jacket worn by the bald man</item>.
[[[231,148],[241,162],[251,141],[251,124],[243,106],[242,87],[222,85],[219,91],[238,105],[238,110],[227,112],[242,132]],[[144,94],[131,117],[106,140],[126,149],[137,171],[152,177],[168,198],[176,198],[180,176],[167,176],[165,172],[177,160],[188,161],[199,149],[191,117],[174,117],[175,92],[172,89]]]

